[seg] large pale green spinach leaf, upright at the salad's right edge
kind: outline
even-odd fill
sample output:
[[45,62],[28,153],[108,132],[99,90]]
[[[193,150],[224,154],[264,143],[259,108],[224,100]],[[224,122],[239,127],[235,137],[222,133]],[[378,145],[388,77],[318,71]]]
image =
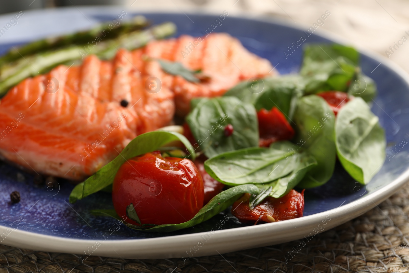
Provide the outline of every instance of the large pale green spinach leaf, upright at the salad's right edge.
[[385,132],[378,117],[360,97],[339,110],[335,140],[342,166],[362,184],[368,183],[385,161]]

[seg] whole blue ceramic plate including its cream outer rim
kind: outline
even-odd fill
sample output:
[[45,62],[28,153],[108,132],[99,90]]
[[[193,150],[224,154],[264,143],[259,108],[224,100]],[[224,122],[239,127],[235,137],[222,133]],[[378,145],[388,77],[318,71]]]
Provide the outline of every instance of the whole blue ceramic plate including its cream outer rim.
[[[26,12],[17,25],[0,37],[0,51],[47,35],[88,28],[115,18],[121,8],[57,9]],[[128,12],[126,18],[134,14]],[[218,14],[144,14],[153,23],[172,21],[178,33],[202,36]],[[0,27],[13,14],[0,16]],[[194,23],[193,23],[194,22]],[[306,43],[334,40],[328,35],[306,35],[303,30],[272,22],[227,16],[214,32],[228,32],[251,52],[269,59],[281,74],[297,72]],[[317,30],[318,32],[319,30]],[[306,37],[301,47],[288,47]],[[285,54],[284,52],[288,52]],[[286,56],[287,55],[287,56]],[[213,255],[314,236],[356,217],[389,197],[409,176],[408,77],[387,60],[362,53],[362,70],[373,78],[379,95],[372,111],[386,129],[388,158],[373,180],[360,186],[345,171],[335,168],[324,186],[306,191],[304,217],[249,226],[229,211],[192,228],[173,233],[131,230],[106,217],[94,217],[90,209],[112,208],[110,194],[97,193],[74,205],[68,203],[70,183],[36,187],[33,176],[7,164],[0,166],[0,243],[35,250],[103,255],[123,258],[167,258]],[[21,201],[10,203],[9,194],[19,191]],[[304,239],[308,240],[308,239]]]

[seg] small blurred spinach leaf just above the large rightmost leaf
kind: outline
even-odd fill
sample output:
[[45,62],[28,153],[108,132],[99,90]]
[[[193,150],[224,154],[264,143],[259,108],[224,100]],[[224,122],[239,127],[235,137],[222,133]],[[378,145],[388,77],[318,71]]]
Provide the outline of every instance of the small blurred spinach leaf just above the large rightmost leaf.
[[348,93],[354,97],[362,97],[365,102],[370,102],[376,96],[376,84],[373,79],[358,71],[351,81]]

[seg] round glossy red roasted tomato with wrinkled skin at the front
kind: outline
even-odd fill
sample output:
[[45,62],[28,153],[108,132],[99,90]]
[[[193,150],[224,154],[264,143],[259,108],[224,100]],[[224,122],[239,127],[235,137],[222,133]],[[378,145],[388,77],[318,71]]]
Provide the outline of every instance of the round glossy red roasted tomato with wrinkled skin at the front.
[[[142,224],[189,221],[202,208],[203,181],[189,159],[163,158],[159,151],[130,158],[119,168],[112,201],[119,217],[133,203]],[[126,217],[126,222],[137,225]]]

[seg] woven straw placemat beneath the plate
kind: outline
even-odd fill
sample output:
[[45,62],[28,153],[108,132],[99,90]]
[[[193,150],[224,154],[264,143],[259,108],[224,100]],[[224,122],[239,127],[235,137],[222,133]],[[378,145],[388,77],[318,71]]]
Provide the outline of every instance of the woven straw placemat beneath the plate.
[[301,241],[208,257],[113,259],[46,253],[0,245],[3,272],[407,272],[409,184],[374,209],[337,228]]

